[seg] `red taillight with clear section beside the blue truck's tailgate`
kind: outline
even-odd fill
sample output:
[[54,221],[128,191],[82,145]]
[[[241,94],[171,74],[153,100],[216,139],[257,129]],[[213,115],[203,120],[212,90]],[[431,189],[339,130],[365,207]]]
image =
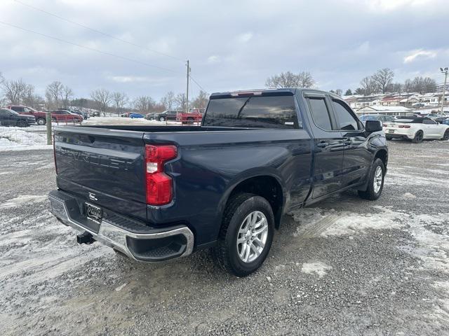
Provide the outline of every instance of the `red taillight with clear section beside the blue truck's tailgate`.
[[163,164],[176,157],[176,146],[145,146],[147,204],[163,205],[170,203],[173,199],[173,180],[163,172]]

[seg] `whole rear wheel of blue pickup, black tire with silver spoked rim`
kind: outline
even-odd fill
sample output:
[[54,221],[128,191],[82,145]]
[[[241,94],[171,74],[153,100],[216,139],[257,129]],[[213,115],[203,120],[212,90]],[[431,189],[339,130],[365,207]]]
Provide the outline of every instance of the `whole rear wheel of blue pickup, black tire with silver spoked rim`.
[[272,246],[274,215],[263,197],[241,193],[227,204],[213,256],[227,272],[247,276],[262,265]]

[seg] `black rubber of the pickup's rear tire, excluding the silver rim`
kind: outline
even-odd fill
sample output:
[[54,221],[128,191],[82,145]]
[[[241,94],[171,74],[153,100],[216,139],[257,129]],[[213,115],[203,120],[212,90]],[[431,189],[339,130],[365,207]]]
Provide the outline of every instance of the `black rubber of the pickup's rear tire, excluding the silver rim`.
[[[237,251],[237,237],[243,221],[253,211],[260,211],[267,218],[267,240],[255,260],[243,262]],[[255,272],[267,258],[272,246],[273,235],[274,215],[269,202],[263,197],[250,193],[235,195],[228,201],[225,209],[217,245],[212,248],[213,257],[217,264],[227,272],[236,276],[247,276]]]

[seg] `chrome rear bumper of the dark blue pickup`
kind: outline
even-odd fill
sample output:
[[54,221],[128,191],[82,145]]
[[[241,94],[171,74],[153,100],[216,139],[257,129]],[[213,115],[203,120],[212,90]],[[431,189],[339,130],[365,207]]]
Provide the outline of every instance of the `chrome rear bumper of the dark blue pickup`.
[[75,197],[60,190],[54,190],[48,198],[51,202],[51,213],[63,224],[81,232],[90,233],[95,240],[134,260],[163,261],[185,257],[193,251],[194,235],[187,226],[177,225],[168,230],[144,226],[144,230],[140,228],[139,232],[133,232],[102,220],[97,231],[90,225],[86,225],[86,216],[81,214],[79,202]]

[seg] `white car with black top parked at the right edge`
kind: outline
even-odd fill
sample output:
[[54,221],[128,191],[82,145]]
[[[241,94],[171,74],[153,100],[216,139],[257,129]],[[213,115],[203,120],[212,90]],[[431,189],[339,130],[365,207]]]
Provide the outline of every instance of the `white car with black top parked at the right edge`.
[[382,123],[387,140],[409,139],[415,144],[426,139],[449,139],[449,125],[438,124],[430,118],[399,117],[393,122]]

